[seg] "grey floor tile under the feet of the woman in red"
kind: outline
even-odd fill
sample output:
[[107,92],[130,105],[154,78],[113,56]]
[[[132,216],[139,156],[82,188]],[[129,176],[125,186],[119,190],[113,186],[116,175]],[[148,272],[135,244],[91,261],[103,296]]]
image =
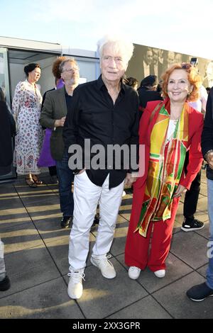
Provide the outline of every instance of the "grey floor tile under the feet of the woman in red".
[[[126,269],[129,269],[124,262],[124,255],[116,256],[116,259],[119,260]],[[193,271],[189,266],[180,261],[180,259],[173,256],[173,254],[168,255],[166,266],[165,278],[157,278],[148,268],[145,271],[141,271],[138,282],[141,283],[141,286],[143,286],[148,293],[153,293],[155,290],[163,288]]]

